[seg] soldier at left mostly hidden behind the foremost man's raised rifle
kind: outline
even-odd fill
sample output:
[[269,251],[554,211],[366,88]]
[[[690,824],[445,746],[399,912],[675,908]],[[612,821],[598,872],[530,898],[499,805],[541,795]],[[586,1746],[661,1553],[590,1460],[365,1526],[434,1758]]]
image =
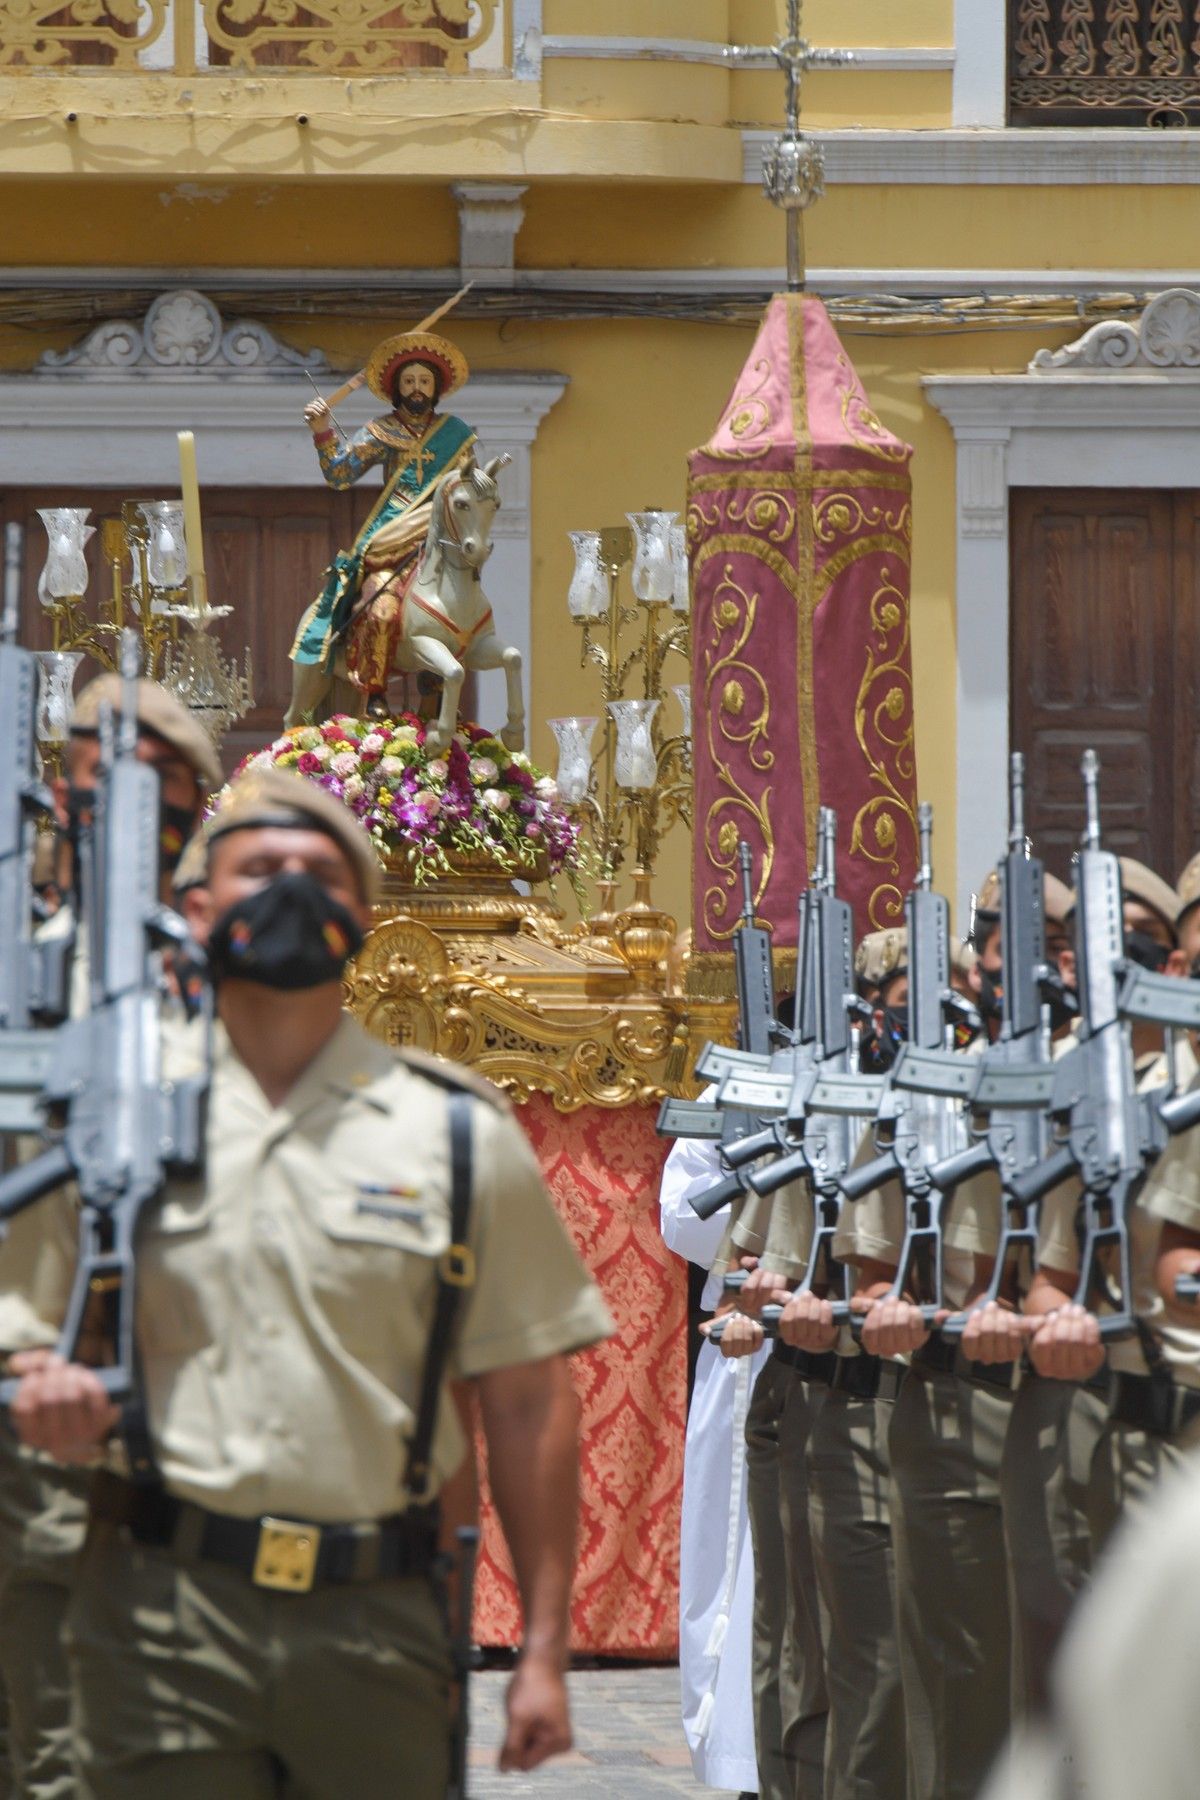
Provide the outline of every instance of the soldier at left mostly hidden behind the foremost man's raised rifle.
[[[76,704],[67,749],[67,776],[56,783],[63,826],[74,824],[94,803],[99,765],[101,706],[119,709],[121,682],[103,675]],[[171,871],[185,835],[200,821],[203,799],[221,783],[221,765],[203,729],[180,702],[155,682],[139,682],[140,761],[157,769],[162,785],[162,898],[171,893]],[[63,846],[58,880],[70,893],[70,846]],[[68,932],[76,923],[65,902],[43,927],[43,936]],[[86,943],[76,947],[72,1001],[86,1004]],[[4,1354],[58,1337],[58,1264],[40,1255],[47,1210],[58,1211],[67,1255],[74,1246],[74,1201],[52,1197],[18,1215],[0,1244],[0,1348]],[[11,1703],[11,1759],[14,1793],[22,1800],[68,1800],[76,1793],[70,1757],[68,1681],[61,1624],[74,1562],[85,1532],[85,1478],[34,1458],[0,1436],[0,1670]]]

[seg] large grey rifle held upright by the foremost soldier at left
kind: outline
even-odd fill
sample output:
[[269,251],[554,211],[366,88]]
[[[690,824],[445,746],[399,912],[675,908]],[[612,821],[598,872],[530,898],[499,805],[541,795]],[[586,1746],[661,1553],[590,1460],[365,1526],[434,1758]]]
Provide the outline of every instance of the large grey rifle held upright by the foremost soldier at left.
[[[203,1166],[209,1069],[169,1080],[162,1064],[162,945],[189,943],[178,913],[158,900],[158,776],[137,756],[133,632],[121,643],[124,695],[115,745],[104,745],[95,824],[85,848],[83,905],[90,945],[90,1012],[54,1033],[41,1102],[59,1139],[0,1181],[0,1220],[74,1179],[79,1188],[79,1260],[59,1339],[76,1355],[85,1314],[104,1309],[115,1361],[95,1373],[126,1404],[133,1451],[139,1424],[135,1244],[139,1220],[169,1174]],[[16,1382],[0,1384],[7,1404]],[[135,1476],[144,1474],[137,1463]]]

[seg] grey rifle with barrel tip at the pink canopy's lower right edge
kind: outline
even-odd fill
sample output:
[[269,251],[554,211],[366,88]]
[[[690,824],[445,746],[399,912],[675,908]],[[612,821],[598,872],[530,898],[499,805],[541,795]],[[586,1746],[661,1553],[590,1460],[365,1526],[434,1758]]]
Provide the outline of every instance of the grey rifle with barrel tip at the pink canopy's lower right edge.
[[[930,1166],[966,1141],[963,1102],[975,1085],[972,1058],[946,1055],[955,1022],[975,1019],[950,986],[950,907],[932,891],[930,841],[934,814],[918,810],[921,868],[905,902],[909,925],[909,1035],[883,1076],[883,1098],[874,1118],[880,1154],[842,1179],[847,1201],[860,1201],[887,1181],[905,1197],[905,1237],[891,1294],[914,1294],[925,1323],[943,1307],[943,1195]],[[975,1021],[977,1022],[977,1021]]]

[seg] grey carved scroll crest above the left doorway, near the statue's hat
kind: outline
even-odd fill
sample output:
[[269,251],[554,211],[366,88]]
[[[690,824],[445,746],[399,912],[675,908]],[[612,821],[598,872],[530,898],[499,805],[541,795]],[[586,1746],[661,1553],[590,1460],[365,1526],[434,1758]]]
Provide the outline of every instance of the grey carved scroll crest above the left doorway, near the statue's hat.
[[79,376],[122,374],[178,376],[185,369],[210,374],[295,374],[309,369],[327,374],[320,351],[304,355],[281,344],[273,331],[255,319],[225,324],[219,310],[194,288],[176,288],[151,301],[144,319],[113,319],[72,349],[45,351],[34,373]]

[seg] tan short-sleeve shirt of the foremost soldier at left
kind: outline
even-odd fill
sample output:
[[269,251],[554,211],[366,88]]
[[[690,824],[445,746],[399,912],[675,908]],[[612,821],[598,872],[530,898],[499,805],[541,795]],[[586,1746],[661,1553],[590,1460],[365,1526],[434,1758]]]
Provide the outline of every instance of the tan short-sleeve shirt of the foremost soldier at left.
[[[241,1517],[403,1510],[437,1262],[448,1093],[344,1019],[272,1107],[218,1033],[203,1181],[173,1181],[139,1249],[151,1435],[173,1494]],[[450,1375],[612,1334],[520,1127],[473,1105],[475,1285]],[[443,1402],[434,1489],[466,1445]]]

